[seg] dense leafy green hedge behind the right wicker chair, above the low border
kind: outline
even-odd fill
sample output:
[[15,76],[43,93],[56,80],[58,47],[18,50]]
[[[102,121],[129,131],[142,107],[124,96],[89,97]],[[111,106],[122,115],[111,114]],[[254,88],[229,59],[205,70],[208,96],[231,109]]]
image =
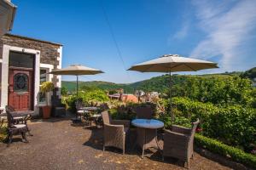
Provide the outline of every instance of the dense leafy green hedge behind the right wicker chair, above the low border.
[[252,150],[251,144],[256,143],[256,111],[253,109],[241,105],[221,108],[185,98],[173,98],[172,104],[189,122],[199,118],[202,134],[207,137],[221,140],[224,144],[242,146],[246,151]]

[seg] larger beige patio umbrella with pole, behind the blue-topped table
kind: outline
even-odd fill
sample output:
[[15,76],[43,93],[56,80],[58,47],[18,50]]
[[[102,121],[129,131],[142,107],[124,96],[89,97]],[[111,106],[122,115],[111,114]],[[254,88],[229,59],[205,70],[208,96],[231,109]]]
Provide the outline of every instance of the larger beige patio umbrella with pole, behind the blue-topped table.
[[[128,71],[140,72],[168,72],[170,77],[170,105],[172,107],[172,77],[171,72],[177,71],[200,71],[204,69],[218,68],[217,63],[201,59],[191,59],[178,54],[166,54],[157,59],[152,59],[137,65],[132,65]],[[171,109],[173,121],[173,114]]]

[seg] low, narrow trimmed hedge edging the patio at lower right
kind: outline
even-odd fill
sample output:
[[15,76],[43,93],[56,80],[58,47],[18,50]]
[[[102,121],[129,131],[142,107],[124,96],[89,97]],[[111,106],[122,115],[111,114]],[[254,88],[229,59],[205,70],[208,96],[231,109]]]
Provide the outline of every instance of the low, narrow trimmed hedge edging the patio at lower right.
[[241,162],[249,167],[256,168],[256,156],[248,154],[243,150],[239,150],[235,147],[223,144],[216,139],[210,139],[201,134],[195,134],[195,144],[199,147],[203,147],[213,153],[230,156],[233,161]]

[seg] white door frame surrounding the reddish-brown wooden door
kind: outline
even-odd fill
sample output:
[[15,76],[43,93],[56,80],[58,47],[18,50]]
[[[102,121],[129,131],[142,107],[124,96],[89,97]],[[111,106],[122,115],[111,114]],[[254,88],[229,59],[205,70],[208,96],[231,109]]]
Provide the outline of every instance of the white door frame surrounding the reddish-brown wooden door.
[[3,59],[2,59],[2,84],[1,84],[1,107],[8,105],[8,88],[9,88],[9,52],[20,52],[26,54],[34,54],[34,92],[33,92],[33,109],[38,113],[38,93],[40,85],[40,51],[32,48],[20,48],[3,44]]

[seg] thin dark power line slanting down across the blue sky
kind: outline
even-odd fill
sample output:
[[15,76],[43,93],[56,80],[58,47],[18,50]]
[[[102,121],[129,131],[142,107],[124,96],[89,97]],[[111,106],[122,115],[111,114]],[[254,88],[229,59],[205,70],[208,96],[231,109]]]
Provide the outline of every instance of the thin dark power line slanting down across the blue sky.
[[123,58],[123,56],[122,56],[122,54],[121,54],[121,50],[120,50],[120,48],[119,48],[119,44],[118,44],[118,42],[116,41],[116,38],[114,37],[113,28],[112,28],[112,26],[111,26],[111,24],[110,24],[110,21],[108,20],[108,14],[107,14],[105,8],[103,7],[103,2],[102,2],[102,0],[100,0],[100,3],[101,3],[101,6],[102,6],[102,11],[103,11],[105,20],[106,20],[106,22],[107,22],[107,24],[108,24],[108,27],[109,27],[109,31],[110,31],[111,36],[112,36],[112,38],[113,38],[114,45],[115,45],[115,47],[117,48],[117,51],[118,51],[118,54],[119,54],[119,58],[120,58],[121,61],[122,61],[122,64],[123,64],[123,66],[124,66],[124,70],[125,70],[125,73],[126,73],[128,79],[131,81],[131,77],[130,77],[129,73],[126,71],[126,68],[125,68],[125,60],[124,60],[124,58]]

